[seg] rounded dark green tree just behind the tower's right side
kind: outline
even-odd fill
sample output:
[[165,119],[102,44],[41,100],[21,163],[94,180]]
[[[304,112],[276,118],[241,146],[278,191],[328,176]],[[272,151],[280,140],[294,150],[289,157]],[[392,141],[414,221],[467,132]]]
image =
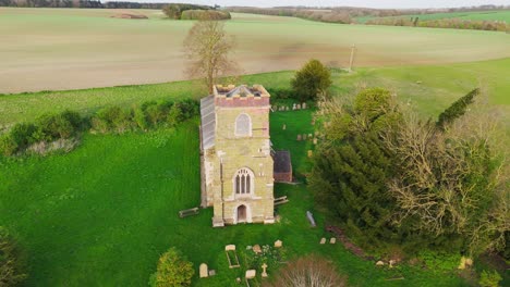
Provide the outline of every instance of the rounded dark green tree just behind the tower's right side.
[[298,100],[315,100],[317,96],[326,95],[331,86],[331,73],[320,61],[311,60],[295,73],[291,84]]

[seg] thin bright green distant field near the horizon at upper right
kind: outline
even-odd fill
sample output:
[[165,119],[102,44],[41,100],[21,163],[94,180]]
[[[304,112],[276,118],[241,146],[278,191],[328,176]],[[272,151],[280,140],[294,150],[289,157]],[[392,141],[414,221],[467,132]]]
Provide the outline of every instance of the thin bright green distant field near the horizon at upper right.
[[[396,17],[420,17],[422,21],[440,20],[440,18],[460,18],[475,21],[505,21],[510,23],[510,10],[499,11],[476,11],[476,12],[451,12],[451,13],[434,13],[434,14],[415,14],[403,15]],[[356,17],[357,23],[365,23],[374,16]]]

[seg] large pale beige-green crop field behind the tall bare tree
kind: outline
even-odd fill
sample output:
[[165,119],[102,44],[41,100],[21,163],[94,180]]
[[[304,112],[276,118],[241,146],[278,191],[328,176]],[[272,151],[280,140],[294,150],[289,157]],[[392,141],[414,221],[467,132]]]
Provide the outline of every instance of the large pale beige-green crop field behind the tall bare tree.
[[[0,8],[0,93],[185,79],[182,41],[191,21],[112,18],[114,10]],[[472,62],[510,57],[503,33],[335,25],[233,14],[234,59],[246,74],[294,70],[311,58],[345,66]]]

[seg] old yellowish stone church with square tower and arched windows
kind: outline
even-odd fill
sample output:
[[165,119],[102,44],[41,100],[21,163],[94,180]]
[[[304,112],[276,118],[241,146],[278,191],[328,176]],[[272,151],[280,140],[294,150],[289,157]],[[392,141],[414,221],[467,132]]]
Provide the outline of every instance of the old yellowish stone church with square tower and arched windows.
[[269,99],[260,85],[217,85],[201,100],[202,207],[215,227],[275,222]]

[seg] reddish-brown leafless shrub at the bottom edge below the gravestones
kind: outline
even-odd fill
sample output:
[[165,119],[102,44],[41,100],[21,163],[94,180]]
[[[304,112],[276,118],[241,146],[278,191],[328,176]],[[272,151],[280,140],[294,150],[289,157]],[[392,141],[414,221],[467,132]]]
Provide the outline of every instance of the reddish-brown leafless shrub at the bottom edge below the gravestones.
[[294,286],[347,286],[344,277],[338,275],[335,265],[326,259],[311,255],[289,262],[280,270],[272,284],[264,286],[294,287]]

